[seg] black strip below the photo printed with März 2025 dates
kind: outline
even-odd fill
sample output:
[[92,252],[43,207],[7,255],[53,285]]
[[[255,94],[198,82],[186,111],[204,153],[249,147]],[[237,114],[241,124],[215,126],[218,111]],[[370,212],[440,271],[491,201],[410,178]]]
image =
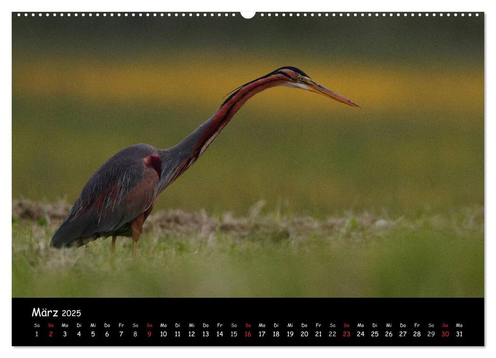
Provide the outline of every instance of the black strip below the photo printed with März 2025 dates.
[[[57,318],[32,317],[43,309],[57,310]],[[35,312],[33,311],[35,310]],[[64,317],[63,310],[76,313],[79,317]],[[51,313],[53,315],[53,312]],[[48,314],[50,315],[50,313]],[[119,322],[125,324],[123,331],[129,337],[117,337]],[[42,337],[35,338],[33,324],[40,324]],[[47,325],[53,322],[52,338],[45,337]],[[71,337],[60,337],[61,323],[69,325]],[[74,325],[80,322],[83,337],[76,337]],[[90,337],[89,325],[95,323],[98,334]],[[110,328],[106,331],[103,324]],[[125,322],[125,323],[124,323]],[[164,323],[167,322],[167,323]],[[220,328],[213,326],[222,322],[228,325],[237,324],[237,337],[215,337]],[[294,331],[292,337],[269,337],[276,331],[270,325],[278,322],[281,332]],[[292,322],[292,330],[287,325]],[[318,329],[315,324],[336,324],[335,337],[313,337]],[[350,337],[343,337],[344,325],[350,325]],[[368,337],[373,322],[379,325],[380,337]],[[391,337],[382,337],[384,326],[392,323]],[[407,337],[399,337],[399,323],[407,325]],[[420,325],[419,331],[426,332],[427,325],[435,324],[439,334],[430,339],[426,334],[413,337],[413,323]],[[138,324],[137,328],[131,325]],[[146,324],[152,324],[147,328]],[[160,324],[168,324],[164,328],[169,337],[159,337],[162,332]],[[180,337],[173,337],[179,324],[179,332],[186,332]],[[194,323],[195,327],[188,327]],[[208,327],[202,327],[202,324]],[[266,327],[259,327],[259,324]],[[301,324],[307,327],[301,327]],[[357,324],[364,324],[362,332]],[[250,324],[250,327],[246,327]],[[447,324],[445,330],[441,325]],[[462,328],[457,328],[461,324]],[[43,328],[42,326],[45,325]],[[58,327],[57,327],[58,325]],[[223,326],[224,330],[227,329]],[[191,328],[191,330],[190,330]],[[325,328],[325,330],[324,330]],[[137,329],[139,337],[131,337],[129,332]],[[147,329],[150,329],[147,331]],[[262,330],[262,329],[265,329]],[[332,332],[332,328],[322,327],[322,332]],[[442,328],[444,329],[444,328]],[[459,330],[458,330],[459,329]],[[463,331],[462,331],[463,329]],[[195,337],[187,337],[187,332],[198,331]],[[223,330],[220,330],[223,331]],[[230,328],[226,332],[232,331]],[[463,332],[463,337],[455,337],[455,332]],[[105,337],[104,332],[109,333]],[[111,335],[110,335],[111,332]],[[116,333],[117,332],[117,333]],[[146,333],[153,332],[150,337]],[[201,333],[209,334],[201,337]],[[250,333],[246,337],[247,332]],[[261,332],[269,332],[267,336],[258,337]],[[309,332],[309,336],[299,334]],[[451,333],[441,337],[441,332]],[[172,334],[172,335],[171,335]],[[289,333],[288,333],[289,334]],[[59,335],[59,337],[57,337]],[[335,339],[334,339],[335,338]],[[12,299],[12,345],[13,346],[484,346],[484,298],[13,298]]]

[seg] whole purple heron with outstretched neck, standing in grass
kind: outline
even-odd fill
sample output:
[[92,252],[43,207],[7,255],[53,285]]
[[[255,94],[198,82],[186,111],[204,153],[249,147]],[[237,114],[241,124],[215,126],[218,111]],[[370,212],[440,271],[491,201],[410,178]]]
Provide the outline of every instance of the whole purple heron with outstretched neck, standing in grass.
[[219,135],[240,107],[264,89],[286,85],[317,92],[350,106],[350,100],[329,91],[294,67],[282,67],[235,89],[212,117],[169,149],[135,144],[116,153],[88,180],[51,245],[79,247],[99,237],[133,239],[133,254],[144,221],[157,196],[189,168]]

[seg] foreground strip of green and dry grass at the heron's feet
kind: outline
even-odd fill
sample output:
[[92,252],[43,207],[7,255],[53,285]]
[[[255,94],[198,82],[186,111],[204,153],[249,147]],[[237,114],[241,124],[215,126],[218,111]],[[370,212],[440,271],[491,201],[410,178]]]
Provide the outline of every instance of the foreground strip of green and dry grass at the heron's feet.
[[13,207],[13,297],[484,295],[481,207],[322,220],[262,205],[241,218],[159,211],[146,223],[136,259],[129,238],[117,239],[113,257],[109,239],[50,248],[60,214],[37,208]]

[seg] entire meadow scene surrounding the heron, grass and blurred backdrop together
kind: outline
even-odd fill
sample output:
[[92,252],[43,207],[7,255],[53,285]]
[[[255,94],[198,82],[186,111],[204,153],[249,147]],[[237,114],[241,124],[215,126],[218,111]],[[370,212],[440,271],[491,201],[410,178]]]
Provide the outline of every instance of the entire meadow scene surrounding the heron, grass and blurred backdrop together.
[[[13,213],[14,297],[482,297],[483,35],[483,16],[13,16],[13,209],[65,203]],[[136,260],[127,239],[48,247],[110,156],[177,144],[285,65],[362,109],[271,88],[160,195]],[[171,209],[217,224],[164,232]]]

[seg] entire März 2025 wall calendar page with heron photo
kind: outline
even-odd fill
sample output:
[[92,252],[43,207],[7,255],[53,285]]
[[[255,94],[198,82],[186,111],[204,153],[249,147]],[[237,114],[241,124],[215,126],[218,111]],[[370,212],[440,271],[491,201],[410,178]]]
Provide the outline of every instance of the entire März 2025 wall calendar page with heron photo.
[[484,12],[12,12],[13,346],[484,346]]

